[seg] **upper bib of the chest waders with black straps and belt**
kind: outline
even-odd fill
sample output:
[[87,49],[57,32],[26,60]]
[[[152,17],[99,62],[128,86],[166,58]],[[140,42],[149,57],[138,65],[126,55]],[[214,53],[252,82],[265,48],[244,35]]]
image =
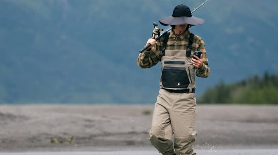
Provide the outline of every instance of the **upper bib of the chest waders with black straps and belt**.
[[195,93],[195,67],[190,59],[194,34],[190,33],[186,50],[166,50],[169,35],[170,32],[162,45],[160,88],[169,92]]

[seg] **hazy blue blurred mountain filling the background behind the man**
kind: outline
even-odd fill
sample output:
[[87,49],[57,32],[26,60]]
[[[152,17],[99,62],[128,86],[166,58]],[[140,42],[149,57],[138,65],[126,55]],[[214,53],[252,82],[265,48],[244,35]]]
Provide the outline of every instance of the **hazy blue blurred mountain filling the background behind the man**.
[[[0,1],[0,103],[154,103],[160,64],[136,65],[152,22],[201,0]],[[278,72],[278,1],[212,0],[194,13],[211,68],[197,96],[222,80]],[[164,26],[160,28],[166,29]]]

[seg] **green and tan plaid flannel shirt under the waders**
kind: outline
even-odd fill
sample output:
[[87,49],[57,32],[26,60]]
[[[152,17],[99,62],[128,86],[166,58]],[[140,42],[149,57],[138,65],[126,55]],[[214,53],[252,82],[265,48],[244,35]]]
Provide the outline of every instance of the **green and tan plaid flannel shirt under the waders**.
[[[168,38],[166,50],[186,50],[189,42],[189,29],[183,32],[183,34],[176,35],[173,31],[170,31],[170,36]],[[144,51],[139,54],[137,59],[137,65],[141,68],[150,68],[161,61],[162,55],[162,44],[164,37],[161,37],[157,44],[151,48],[150,51]],[[201,78],[208,77],[210,69],[208,67],[208,58],[206,56],[206,49],[204,40],[194,35],[192,50],[190,58],[193,58],[194,51],[202,51],[203,55],[203,66],[200,69],[196,69],[196,76]]]

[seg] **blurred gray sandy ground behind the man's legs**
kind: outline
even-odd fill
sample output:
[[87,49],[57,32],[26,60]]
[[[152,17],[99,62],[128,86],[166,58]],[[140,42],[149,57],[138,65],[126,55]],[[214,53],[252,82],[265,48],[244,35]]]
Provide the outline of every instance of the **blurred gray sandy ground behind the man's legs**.
[[[0,151],[152,148],[154,105],[0,105]],[[198,105],[196,149],[277,147],[278,106]],[[72,143],[50,143],[74,136]]]

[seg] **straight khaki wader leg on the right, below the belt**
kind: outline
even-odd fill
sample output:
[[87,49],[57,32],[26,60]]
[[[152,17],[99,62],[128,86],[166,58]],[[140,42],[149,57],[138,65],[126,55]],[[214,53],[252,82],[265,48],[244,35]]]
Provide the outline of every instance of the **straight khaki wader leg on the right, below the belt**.
[[172,93],[170,119],[174,133],[174,148],[177,155],[196,155],[193,144],[197,138],[196,97],[194,93]]

